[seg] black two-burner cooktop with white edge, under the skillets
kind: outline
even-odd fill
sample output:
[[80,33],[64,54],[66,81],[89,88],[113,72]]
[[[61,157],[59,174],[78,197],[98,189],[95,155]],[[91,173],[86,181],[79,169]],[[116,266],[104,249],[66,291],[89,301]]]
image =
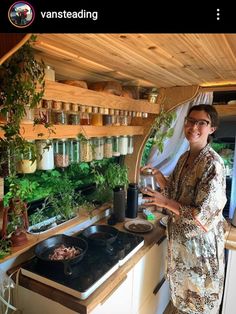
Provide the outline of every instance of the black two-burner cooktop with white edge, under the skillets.
[[[77,236],[83,238],[80,234]],[[143,244],[142,236],[119,231],[115,242],[109,247],[88,242],[88,250],[83,259],[71,265],[71,275],[64,274],[62,263],[48,263],[37,257],[22,265],[21,271],[25,276],[86,299]]]

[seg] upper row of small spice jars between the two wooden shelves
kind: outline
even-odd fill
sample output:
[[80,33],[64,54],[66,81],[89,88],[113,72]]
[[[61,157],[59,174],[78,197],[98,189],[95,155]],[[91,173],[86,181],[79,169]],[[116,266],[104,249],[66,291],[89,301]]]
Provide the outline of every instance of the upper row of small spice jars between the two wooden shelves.
[[128,110],[83,106],[74,103],[43,100],[36,109],[25,107],[22,123],[33,123],[34,119],[53,124],[70,125],[130,125],[133,117],[146,118],[147,113]]

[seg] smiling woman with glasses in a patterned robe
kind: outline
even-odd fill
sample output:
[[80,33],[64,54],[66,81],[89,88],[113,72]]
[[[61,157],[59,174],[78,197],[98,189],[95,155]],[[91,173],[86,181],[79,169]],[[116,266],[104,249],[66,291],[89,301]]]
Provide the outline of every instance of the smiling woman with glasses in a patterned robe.
[[212,106],[192,107],[184,123],[190,150],[180,157],[168,180],[153,169],[162,193],[145,190],[149,195],[145,206],[157,205],[170,212],[167,277],[175,313],[219,313],[226,183],[223,161],[209,145],[217,126],[218,115]]

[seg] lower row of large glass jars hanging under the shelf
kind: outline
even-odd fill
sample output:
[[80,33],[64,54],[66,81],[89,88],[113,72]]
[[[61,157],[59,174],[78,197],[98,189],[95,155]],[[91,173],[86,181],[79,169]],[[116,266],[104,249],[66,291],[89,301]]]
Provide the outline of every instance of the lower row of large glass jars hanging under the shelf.
[[[56,139],[36,140],[17,164],[18,173],[33,173],[38,170],[66,168],[71,163],[90,162],[133,153],[132,136],[91,138],[88,140]],[[37,160],[32,162],[33,151]]]

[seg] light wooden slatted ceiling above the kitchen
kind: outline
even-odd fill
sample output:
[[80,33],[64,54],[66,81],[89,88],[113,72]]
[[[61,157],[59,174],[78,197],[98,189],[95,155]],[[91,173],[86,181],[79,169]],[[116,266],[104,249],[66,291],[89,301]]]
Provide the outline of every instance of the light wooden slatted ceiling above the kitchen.
[[39,34],[57,79],[144,87],[233,84],[236,34]]

